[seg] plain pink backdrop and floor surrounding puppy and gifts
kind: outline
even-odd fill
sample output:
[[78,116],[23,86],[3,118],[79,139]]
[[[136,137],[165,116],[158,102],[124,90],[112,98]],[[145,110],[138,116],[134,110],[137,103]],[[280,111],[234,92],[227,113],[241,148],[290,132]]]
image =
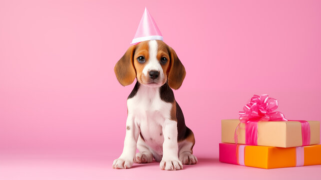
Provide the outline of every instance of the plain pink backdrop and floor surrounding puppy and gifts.
[[[179,172],[158,163],[111,168],[133,88],[118,83],[113,67],[145,6],[187,71],[174,93],[200,162]],[[220,120],[237,118],[253,94],[277,98],[289,119],[320,120],[320,32],[318,0],[1,0],[0,179],[320,174],[320,165],[218,162]]]

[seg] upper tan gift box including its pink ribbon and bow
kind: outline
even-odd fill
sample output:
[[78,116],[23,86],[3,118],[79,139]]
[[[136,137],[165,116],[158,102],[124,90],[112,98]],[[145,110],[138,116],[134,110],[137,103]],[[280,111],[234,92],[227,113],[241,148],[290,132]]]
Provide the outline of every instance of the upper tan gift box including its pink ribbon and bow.
[[320,121],[289,120],[277,108],[277,99],[254,95],[239,119],[222,120],[222,142],[276,147],[320,143]]

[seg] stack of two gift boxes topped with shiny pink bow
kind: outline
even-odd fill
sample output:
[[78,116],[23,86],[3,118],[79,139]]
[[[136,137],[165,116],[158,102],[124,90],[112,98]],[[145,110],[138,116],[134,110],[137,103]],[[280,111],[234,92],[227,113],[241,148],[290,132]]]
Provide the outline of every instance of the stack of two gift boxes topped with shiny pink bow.
[[220,161],[260,168],[321,164],[320,121],[288,120],[255,95],[239,119],[222,120]]

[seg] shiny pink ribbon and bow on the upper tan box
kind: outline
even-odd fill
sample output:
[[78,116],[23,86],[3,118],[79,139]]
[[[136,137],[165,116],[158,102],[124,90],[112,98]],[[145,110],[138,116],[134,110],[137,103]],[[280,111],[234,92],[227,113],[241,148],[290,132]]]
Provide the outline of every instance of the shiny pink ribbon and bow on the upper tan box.
[[[269,95],[254,95],[250,102],[246,104],[240,111],[240,123],[245,123],[245,143],[258,145],[258,122],[264,121],[287,121],[284,114],[279,111],[274,111],[278,108],[278,100],[269,97]],[[290,121],[290,120],[289,120]],[[310,124],[306,120],[300,121],[302,129],[302,145],[310,144]],[[234,140],[237,143],[237,129],[235,129]]]

